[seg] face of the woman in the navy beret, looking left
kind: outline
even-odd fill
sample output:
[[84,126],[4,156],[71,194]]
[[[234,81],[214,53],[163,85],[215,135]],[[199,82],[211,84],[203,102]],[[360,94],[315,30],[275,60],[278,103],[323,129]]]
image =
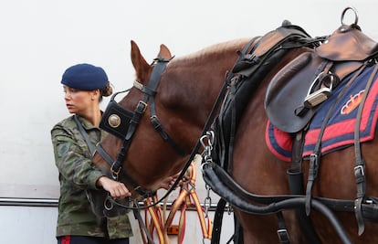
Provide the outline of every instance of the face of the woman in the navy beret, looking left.
[[63,86],[64,100],[69,113],[84,114],[88,111],[95,100],[93,90],[78,90]]

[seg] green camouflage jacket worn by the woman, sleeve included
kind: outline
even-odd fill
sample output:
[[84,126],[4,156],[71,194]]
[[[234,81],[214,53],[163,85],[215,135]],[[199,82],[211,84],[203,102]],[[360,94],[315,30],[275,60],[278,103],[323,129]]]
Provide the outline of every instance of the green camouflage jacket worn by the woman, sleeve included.
[[[96,144],[106,133],[84,118],[79,116],[78,118],[88,133],[93,148],[96,148]],[[51,140],[60,182],[57,237],[66,235],[110,239],[131,237],[131,223],[127,215],[97,217],[91,210],[86,189],[98,189],[96,181],[103,174],[91,163],[88,145],[79,132],[73,116],[58,122],[53,127]]]

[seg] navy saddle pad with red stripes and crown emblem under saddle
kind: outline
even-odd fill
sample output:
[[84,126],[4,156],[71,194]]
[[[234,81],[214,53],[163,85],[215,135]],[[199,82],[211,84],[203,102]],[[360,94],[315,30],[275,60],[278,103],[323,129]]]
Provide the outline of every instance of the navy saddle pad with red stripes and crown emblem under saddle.
[[[366,87],[367,80],[373,71],[373,67],[366,68],[360,76],[354,80],[352,85],[344,93],[341,100],[335,105],[334,113],[328,122],[327,128],[321,140],[321,154],[328,154],[338,149],[354,144],[354,126],[358,107]],[[353,73],[347,76],[337,89],[333,90],[331,98],[320,105],[320,109],[310,122],[309,131],[305,136],[303,156],[307,157],[313,153],[315,144],[321,129],[321,124],[333,102],[336,101],[345,84],[351,80]],[[378,75],[375,75],[368,97],[362,110],[360,126],[360,142],[373,140],[376,122],[378,118]],[[290,161],[292,149],[291,133],[284,133],[268,121],[266,130],[266,142],[270,151],[279,159]]]

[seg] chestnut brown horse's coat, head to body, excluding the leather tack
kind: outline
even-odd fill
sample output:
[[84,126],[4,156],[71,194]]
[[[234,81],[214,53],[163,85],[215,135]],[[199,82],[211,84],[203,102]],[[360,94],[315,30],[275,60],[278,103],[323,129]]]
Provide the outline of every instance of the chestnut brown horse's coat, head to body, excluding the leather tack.
[[[157,64],[153,62],[149,65],[142,57],[140,49],[131,41],[131,60],[136,70],[137,82],[119,105],[127,111],[137,111],[136,106],[144,102],[148,106],[141,110],[135,130],[126,143],[127,154],[121,158],[122,171],[132,180],[127,180],[123,174],[120,174],[120,179],[131,189],[132,197],[141,198],[143,194],[138,191],[141,188],[147,189],[147,192],[156,190],[163,178],[174,175],[183,168],[194,144],[201,136],[227,72],[233,69],[237,58],[236,51],[244,48],[248,40],[236,39],[220,43],[182,58],[172,58],[168,48],[162,45],[158,57],[164,62],[170,61],[166,69],[158,73],[155,91],[150,90],[147,84],[153,75],[152,69]],[[266,72],[240,118],[234,139],[231,176],[247,192],[261,196],[290,194],[287,175],[290,164],[273,155],[265,143],[268,116],[264,98],[269,80],[279,69],[306,50],[307,48],[290,49],[274,68]],[[152,96],[153,99],[145,99]],[[154,121],[152,125],[152,118],[158,119],[158,122]],[[167,143],[164,140],[167,137],[173,143]],[[368,196],[378,196],[378,179],[373,176],[378,173],[378,167],[374,165],[378,160],[376,138],[375,133],[372,141],[362,143]],[[101,147],[115,159],[121,147],[125,147],[124,142],[120,137],[110,134],[101,143]],[[110,172],[110,164],[100,154],[94,155],[93,162],[104,172]],[[354,200],[354,166],[353,146],[322,156],[318,180],[313,186],[313,196]],[[304,161],[305,179],[308,171],[309,162]],[[307,182],[303,184],[306,185]],[[243,229],[244,243],[279,242],[276,215],[249,214],[237,207],[234,213]],[[290,243],[306,243],[294,211],[285,210],[283,214]],[[359,236],[353,212],[337,212],[336,215],[353,243],[378,243],[377,224],[365,220],[364,232]],[[341,243],[341,238],[327,217],[312,209],[310,218],[321,243]]]

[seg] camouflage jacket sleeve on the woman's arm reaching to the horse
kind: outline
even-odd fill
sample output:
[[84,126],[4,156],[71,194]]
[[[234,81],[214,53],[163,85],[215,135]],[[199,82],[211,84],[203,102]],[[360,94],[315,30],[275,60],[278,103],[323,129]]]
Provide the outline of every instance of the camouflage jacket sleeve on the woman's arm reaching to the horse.
[[80,188],[98,189],[96,182],[103,174],[93,166],[89,154],[80,147],[75,135],[56,125],[51,130],[51,140],[59,174]]

